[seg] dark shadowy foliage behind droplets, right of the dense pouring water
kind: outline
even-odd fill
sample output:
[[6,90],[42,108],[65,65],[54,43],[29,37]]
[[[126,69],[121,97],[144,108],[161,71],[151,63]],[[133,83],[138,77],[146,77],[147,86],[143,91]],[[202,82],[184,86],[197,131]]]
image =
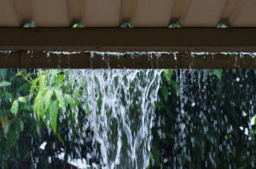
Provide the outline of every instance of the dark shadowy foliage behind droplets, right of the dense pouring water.
[[[252,168],[254,70],[215,70],[212,76],[184,71],[182,97],[166,81],[166,72],[163,83],[168,90],[159,91],[152,128],[151,168]],[[171,80],[181,73],[172,74]]]

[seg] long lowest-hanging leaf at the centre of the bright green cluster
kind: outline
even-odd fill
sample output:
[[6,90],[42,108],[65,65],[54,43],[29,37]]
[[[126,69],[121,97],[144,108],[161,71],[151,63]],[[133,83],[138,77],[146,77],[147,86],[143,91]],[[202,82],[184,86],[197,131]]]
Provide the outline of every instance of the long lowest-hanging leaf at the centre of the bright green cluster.
[[49,104],[49,118],[50,126],[53,132],[56,132],[57,128],[57,117],[58,117],[59,105],[57,101],[53,101]]

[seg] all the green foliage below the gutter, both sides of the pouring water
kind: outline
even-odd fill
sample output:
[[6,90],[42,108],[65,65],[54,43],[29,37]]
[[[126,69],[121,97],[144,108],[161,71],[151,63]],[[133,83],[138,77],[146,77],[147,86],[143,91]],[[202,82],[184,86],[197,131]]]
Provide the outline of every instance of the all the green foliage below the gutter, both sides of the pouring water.
[[[207,71],[163,70],[159,100],[155,102],[148,168],[253,167],[255,72]],[[183,93],[180,91],[181,82],[177,81],[181,73],[186,79],[182,84]],[[18,73],[16,70],[0,70],[2,168],[34,168],[33,161],[38,161],[37,168],[55,168],[56,164],[63,168],[66,163],[53,158],[61,152],[66,153],[67,160],[67,156],[87,158],[87,152],[96,151],[99,157],[91,158],[90,164],[100,163],[100,144],[88,141],[93,131],[87,128],[86,134],[81,134],[87,122],[84,117],[90,112],[86,98],[84,101],[78,98],[88,93],[84,87],[88,84],[84,79],[73,82],[72,76],[68,70],[20,70]],[[204,76],[208,78],[202,78]],[[69,81],[68,85],[65,81]],[[138,91],[134,92],[136,85],[132,82],[129,90],[141,95]],[[119,93],[122,95],[124,91]],[[131,101],[131,113],[127,118],[132,116],[137,119],[131,125],[131,130],[136,131],[141,103]],[[125,97],[122,102],[127,104]],[[82,109],[82,106],[87,108]],[[101,95],[98,106],[102,106]],[[248,123],[252,118],[254,123]],[[117,121],[111,120],[111,123],[113,128],[118,126]],[[73,138],[63,137],[70,133]],[[114,138],[117,134],[113,130],[110,137]],[[84,144],[78,143],[78,139],[84,140]],[[122,144],[127,144],[127,139],[122,133]],[[47,142],[45,149],[38,149],[44,141]],[[77,149],[80,149],[80,155]],[[123,147],[121,152],[121,162],[124,162],[129,152]],[[49,156],[54,162],[48,162]]]

